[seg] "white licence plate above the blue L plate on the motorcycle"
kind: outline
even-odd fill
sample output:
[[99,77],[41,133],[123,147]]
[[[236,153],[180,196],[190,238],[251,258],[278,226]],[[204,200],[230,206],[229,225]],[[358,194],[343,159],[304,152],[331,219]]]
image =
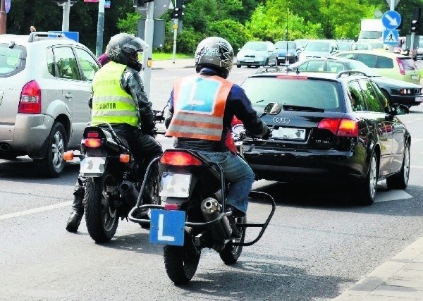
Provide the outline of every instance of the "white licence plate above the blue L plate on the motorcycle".
[[188,197],[190,193],[191,175],[189,173],[168,173],[161,175],[161,197]]

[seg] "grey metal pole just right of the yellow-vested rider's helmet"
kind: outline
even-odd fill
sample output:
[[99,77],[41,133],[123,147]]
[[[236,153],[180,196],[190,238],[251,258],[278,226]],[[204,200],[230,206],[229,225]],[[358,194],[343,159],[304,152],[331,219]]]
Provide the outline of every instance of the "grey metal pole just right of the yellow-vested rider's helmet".
[[147,3],[147,17],[145,18],[145,42],[149,44],[149,49],[144,51],[142,56],[142,66],[144,67],[144,92],[149,98],[150,82],[152,78],[152,53],[154,34],[154,1]]

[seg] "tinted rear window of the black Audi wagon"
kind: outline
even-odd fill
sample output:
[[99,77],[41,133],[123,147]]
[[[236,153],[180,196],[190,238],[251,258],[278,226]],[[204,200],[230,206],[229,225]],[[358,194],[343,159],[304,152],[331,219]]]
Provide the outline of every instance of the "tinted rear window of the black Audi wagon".
[[264,109],[270,102],[277,102],[278,104],[308,106],[325,111],[341,111],[338,82],[258,77],[247,78],[242,86],[255,108]]

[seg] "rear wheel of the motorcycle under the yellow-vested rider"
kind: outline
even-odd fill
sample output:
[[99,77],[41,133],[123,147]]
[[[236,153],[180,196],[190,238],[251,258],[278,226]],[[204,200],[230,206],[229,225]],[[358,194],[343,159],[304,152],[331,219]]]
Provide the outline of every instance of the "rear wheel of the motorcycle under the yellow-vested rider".
[[[85,187],[85,221],[95,242],[108,242],[118,228],[117,209],[111,206],[107,187],[116,186],[114,176],[107,170],[102,177],[87,178]],[[110,190],[109,190],[110,191]]]

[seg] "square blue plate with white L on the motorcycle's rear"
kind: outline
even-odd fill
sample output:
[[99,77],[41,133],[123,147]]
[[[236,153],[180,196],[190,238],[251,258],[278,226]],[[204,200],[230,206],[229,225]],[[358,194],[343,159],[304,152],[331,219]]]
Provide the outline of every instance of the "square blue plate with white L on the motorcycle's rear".
[[150,242],[159,245],[183,245],[185,211],[152,209]]

